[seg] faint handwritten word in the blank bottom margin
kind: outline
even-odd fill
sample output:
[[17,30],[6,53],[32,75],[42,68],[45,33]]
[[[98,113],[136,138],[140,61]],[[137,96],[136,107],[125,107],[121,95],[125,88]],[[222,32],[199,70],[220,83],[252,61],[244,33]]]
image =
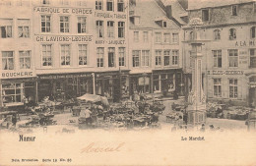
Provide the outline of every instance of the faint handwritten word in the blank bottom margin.
[[92,152],[114,152],[120,151],[121,147],[123,147],[125,142],[114,143],[114,144],[100,144],[96,142],[92,142],[88,144],[86,147],[81,149],[81,153],[92,153]]

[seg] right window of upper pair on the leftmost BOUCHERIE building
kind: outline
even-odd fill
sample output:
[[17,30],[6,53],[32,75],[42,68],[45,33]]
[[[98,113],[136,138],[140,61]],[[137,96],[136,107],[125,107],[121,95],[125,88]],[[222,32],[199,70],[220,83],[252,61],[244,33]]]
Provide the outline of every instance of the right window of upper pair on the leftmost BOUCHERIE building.
[[18,36],[29,38],[30,37],[30,20],[18,19]]

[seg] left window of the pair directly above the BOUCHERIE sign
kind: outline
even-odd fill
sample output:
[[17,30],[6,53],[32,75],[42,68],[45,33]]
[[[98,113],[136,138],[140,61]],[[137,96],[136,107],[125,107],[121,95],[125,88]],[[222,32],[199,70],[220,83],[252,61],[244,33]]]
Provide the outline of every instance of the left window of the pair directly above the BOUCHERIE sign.
[[2,70],[14,70],[14,52],[2,52]]

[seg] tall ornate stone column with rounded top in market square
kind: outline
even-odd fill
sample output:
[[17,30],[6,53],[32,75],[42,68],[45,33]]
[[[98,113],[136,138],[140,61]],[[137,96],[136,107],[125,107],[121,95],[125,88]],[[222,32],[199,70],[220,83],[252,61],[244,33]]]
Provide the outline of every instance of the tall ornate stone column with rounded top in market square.
[[191,58],[194,61],[192,67],[192,89],[188,95],[188,124],[200,125],[206,122],[206,96],[202,87],[202,45],[205,40],[200,39],[199,28],[203,22],[194,18],[189,25],[193,28],[190,44],[192,46]]

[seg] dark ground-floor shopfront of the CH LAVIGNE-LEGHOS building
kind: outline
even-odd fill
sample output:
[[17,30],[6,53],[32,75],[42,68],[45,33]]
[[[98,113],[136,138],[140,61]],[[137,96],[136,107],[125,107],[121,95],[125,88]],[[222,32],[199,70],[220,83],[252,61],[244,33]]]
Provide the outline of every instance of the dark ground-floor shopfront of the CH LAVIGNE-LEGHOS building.
[[76,98],[86,93],[94,93],[92,73],[38,75],[38,100]]

